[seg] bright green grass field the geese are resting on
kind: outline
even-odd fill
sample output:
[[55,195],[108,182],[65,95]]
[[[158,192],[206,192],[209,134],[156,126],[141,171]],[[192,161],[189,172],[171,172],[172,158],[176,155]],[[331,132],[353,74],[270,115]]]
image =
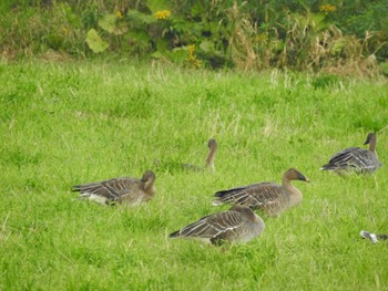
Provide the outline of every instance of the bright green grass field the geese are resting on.
[[[0,64],[1,290],[388,290],[388,84],[381,80],[185,71],[126,62]],[[376,132],[371,177],[319,172]],[[155,169],[153,160],[216,172]],[[263,236],[225,248],[169,233],[228,207],[216,190],[310,184]],[[74,200],[71,186],[157,176],[137,208]]]

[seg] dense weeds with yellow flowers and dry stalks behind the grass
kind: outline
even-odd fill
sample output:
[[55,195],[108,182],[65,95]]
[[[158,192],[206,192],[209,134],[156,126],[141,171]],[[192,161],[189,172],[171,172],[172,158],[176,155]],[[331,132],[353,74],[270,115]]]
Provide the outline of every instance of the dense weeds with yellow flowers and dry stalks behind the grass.
[[0,9],[9,59],[120,53],[193,67],[388,72],[386,0],[3,0]]

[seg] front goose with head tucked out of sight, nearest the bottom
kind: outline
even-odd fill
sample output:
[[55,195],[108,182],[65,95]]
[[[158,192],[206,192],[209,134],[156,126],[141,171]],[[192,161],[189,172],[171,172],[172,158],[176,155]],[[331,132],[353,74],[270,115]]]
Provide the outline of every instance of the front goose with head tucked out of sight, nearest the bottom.
[[194,238],[212,245],[223,241],[248,242],[262,235],[265,228],[263,219],[245,206],[233,206],[229,210],[201,218],[170,238]]

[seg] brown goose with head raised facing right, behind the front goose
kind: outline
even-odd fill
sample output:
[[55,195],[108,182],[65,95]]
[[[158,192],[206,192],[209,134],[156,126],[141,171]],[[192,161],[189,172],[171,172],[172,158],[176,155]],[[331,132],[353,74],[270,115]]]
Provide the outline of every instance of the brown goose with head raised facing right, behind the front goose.
[[309,181],[300,172],[290,168],[283,175],[283,185],[264,181],[217,191],[213,205],[245,205],[252,209],[261,209],[267,216],[277,216],[302,202],[302,193],[292,185],[292,180]]

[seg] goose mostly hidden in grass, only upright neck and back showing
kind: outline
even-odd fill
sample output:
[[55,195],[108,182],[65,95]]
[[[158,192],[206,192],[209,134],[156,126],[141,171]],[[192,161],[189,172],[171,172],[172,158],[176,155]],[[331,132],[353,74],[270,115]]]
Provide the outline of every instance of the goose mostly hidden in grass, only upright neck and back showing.
[[215,158],[215,154],[217,152],[217,142],[214,138],[208,139],[207,147],[208,147],[208,153],[207,153],[207,157],[205,159],[205,167],[201,167],[201,166],[193,165],[193,164],[161,162],[159,159],[155,159],[154,163],[159,168],[169,168],[169,169],[180,168],[180,169],[184,169],[184,170],[188,170],[188,172],[202,172],[205,168],[208,168],[212,172],[214,172],[215,170],[214,158]]

